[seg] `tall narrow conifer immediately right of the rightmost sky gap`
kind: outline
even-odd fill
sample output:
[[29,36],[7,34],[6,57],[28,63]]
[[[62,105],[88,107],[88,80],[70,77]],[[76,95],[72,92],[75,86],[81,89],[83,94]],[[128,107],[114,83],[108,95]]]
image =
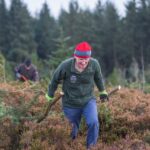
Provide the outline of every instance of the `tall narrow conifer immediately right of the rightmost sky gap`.
[[[128,2],[126,5],[126,16],[120,23],[120,39],[118,40],[119,63],[128,68],[135,57],[136,42],[137,42],[137,8],[135,0]],[[136,58],[136,57],[135,57]]]

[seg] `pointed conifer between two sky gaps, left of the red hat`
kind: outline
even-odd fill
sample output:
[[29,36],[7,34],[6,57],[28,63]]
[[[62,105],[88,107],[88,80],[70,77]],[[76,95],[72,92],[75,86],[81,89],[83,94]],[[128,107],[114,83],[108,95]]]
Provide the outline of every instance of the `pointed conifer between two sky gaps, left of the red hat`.
[[39,19],[36,26],[37,53],[42,59],[48,59],[53,51],[56,50],[54,39],[58,36],[57,24],[55,19],[50,15],[47,3],[43,4]]

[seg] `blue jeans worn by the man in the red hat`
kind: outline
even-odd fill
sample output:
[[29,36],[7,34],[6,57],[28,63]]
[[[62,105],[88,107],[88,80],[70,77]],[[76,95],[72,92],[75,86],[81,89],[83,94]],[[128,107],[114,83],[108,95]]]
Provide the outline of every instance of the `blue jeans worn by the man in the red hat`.
[[87,133],[87,148],[93,146],[97,143],[99,135],[99,121],[96,100],[90,100],[83,108],[63,108],[65,116],[69,119],[73,125],[71,137],[72,139],[76,138],[79,124],[81,121],[82,115],[85,117],[86,124],[88,126]]

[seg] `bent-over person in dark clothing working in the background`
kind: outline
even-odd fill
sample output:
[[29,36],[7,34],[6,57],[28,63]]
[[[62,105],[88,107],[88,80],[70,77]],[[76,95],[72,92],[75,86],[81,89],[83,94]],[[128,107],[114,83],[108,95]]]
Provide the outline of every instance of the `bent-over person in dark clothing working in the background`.
[[32,64],[31,60],[28,58],[24,63],[20,64],[15,68],[16,78],[20,81],[38,81],[39,75],[36,67]]

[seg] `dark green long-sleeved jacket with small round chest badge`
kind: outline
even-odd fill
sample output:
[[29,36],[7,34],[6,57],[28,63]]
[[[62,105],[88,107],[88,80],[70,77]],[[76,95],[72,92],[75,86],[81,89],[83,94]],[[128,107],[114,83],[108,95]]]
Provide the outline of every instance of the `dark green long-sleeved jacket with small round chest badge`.
[[53,97],[60,81],[63,81],[62,98],[63,106],[81,108],[94,97],[94,83],[99,91],[104,90],[101,68],[98,61],[91,58],[87,68],[83,72],[75,69],[75,59],[70,58],[63,61],[55,70],[48,95]]

